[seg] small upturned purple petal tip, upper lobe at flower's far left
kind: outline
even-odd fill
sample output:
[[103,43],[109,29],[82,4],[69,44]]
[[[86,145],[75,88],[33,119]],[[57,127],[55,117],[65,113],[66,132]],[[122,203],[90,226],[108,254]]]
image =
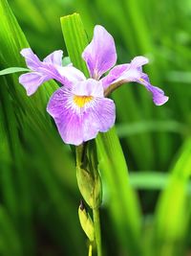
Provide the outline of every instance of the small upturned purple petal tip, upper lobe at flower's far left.
[[27,66],[33,71],[36,71],[41,65],[40,59],[34,55],[31,48],[24,48],[21,50],[20,54],[25,58]]

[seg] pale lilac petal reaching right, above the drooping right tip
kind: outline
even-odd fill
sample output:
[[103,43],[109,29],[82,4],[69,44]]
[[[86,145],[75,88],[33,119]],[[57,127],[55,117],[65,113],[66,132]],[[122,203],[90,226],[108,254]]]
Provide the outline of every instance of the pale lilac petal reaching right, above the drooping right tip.
[[137,81],[142,74],[142,65],[148,63],[148,61],[148,58],[138,56],[133,58],[131,63],[115,66],[109,72],[109,74],[101,80],[104,89],[106,89],[112,83],[120,81],[122,81],[122,83],[128,81]]

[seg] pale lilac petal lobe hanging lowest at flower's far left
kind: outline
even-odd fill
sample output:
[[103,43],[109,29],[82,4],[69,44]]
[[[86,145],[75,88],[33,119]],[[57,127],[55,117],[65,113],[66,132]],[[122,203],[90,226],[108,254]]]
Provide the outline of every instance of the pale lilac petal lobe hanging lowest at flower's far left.
[[48,78],[35,72],[19,77],[19,82],[25,87],[28,96],[31,96],[44,81],[48,81]]

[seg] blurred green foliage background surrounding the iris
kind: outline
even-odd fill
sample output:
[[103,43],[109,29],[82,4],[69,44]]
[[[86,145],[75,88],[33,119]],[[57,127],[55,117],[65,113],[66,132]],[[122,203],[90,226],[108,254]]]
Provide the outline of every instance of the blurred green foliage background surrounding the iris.
[[[56,49],[63,49],[67,56],[60,16],[73,12],[80,13],[89,40],[96,24],[114,36],[118,63],[138,55],[150,58],[145,71],[153,84],[165,90],[169,102],[153,105],[148,92],[135,83],[124,85],[113,95],[117,133],[142,212],[139,243],[133,243],[131,232],[138,227],[126,209],[131,205],[134,212],[137,198],[129,196],[129,188],[119,187],[126,179],[123,158],[116,166],[114,145],[108,140],[110,151],[104,151],[98,138],[104,182],[103,247],[105,255],[114,256],[189,255],[191,2],[10,0],[9,4],[27,39],[7,1],[0,0],[0,69],[25,67],[19,51],[28,47],[28,42],[42,58]],[[74,156],[45,111],[56,87],[53,81],[47,82],[28,98],[17,74],[0,78],[2,256],[87,254],[86,238],[77,220],[80,195]]]

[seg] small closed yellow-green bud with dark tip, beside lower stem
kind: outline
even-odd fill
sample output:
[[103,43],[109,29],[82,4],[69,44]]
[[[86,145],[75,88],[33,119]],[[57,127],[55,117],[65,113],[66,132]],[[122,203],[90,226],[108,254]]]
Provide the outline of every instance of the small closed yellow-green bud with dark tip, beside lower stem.
[[95,241],[95,226],[94,223],[90,217],[90,215],[87,213],[83,201],[80,202],[79,208],[78,208],[78,216],[79,221],[81,224],[82,229],[86,233],[86,236],[90,240],[90,242]]

